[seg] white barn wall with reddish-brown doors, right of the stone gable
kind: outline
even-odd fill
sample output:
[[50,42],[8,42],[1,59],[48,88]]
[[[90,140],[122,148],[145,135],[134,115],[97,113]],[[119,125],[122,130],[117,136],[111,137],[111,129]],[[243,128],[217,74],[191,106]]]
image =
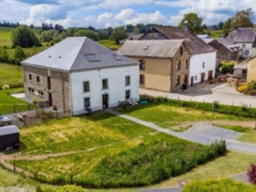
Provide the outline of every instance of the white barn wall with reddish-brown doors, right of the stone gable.
[[[194,85],[200,84],[201,82],[201,73],[205,73],[204,80],[208,80],[208,72],[213,71],[213,78],[215,77],[216,70],[216,59],[217,53],[205,53],[200,55],[192,55],[190,59],[190,68],[189,68],[189,86],[191,85],[191,77],[194,77]],[[205,62],[203,68],[203,62]],[[197,79],[195,78],[197,76]]]

